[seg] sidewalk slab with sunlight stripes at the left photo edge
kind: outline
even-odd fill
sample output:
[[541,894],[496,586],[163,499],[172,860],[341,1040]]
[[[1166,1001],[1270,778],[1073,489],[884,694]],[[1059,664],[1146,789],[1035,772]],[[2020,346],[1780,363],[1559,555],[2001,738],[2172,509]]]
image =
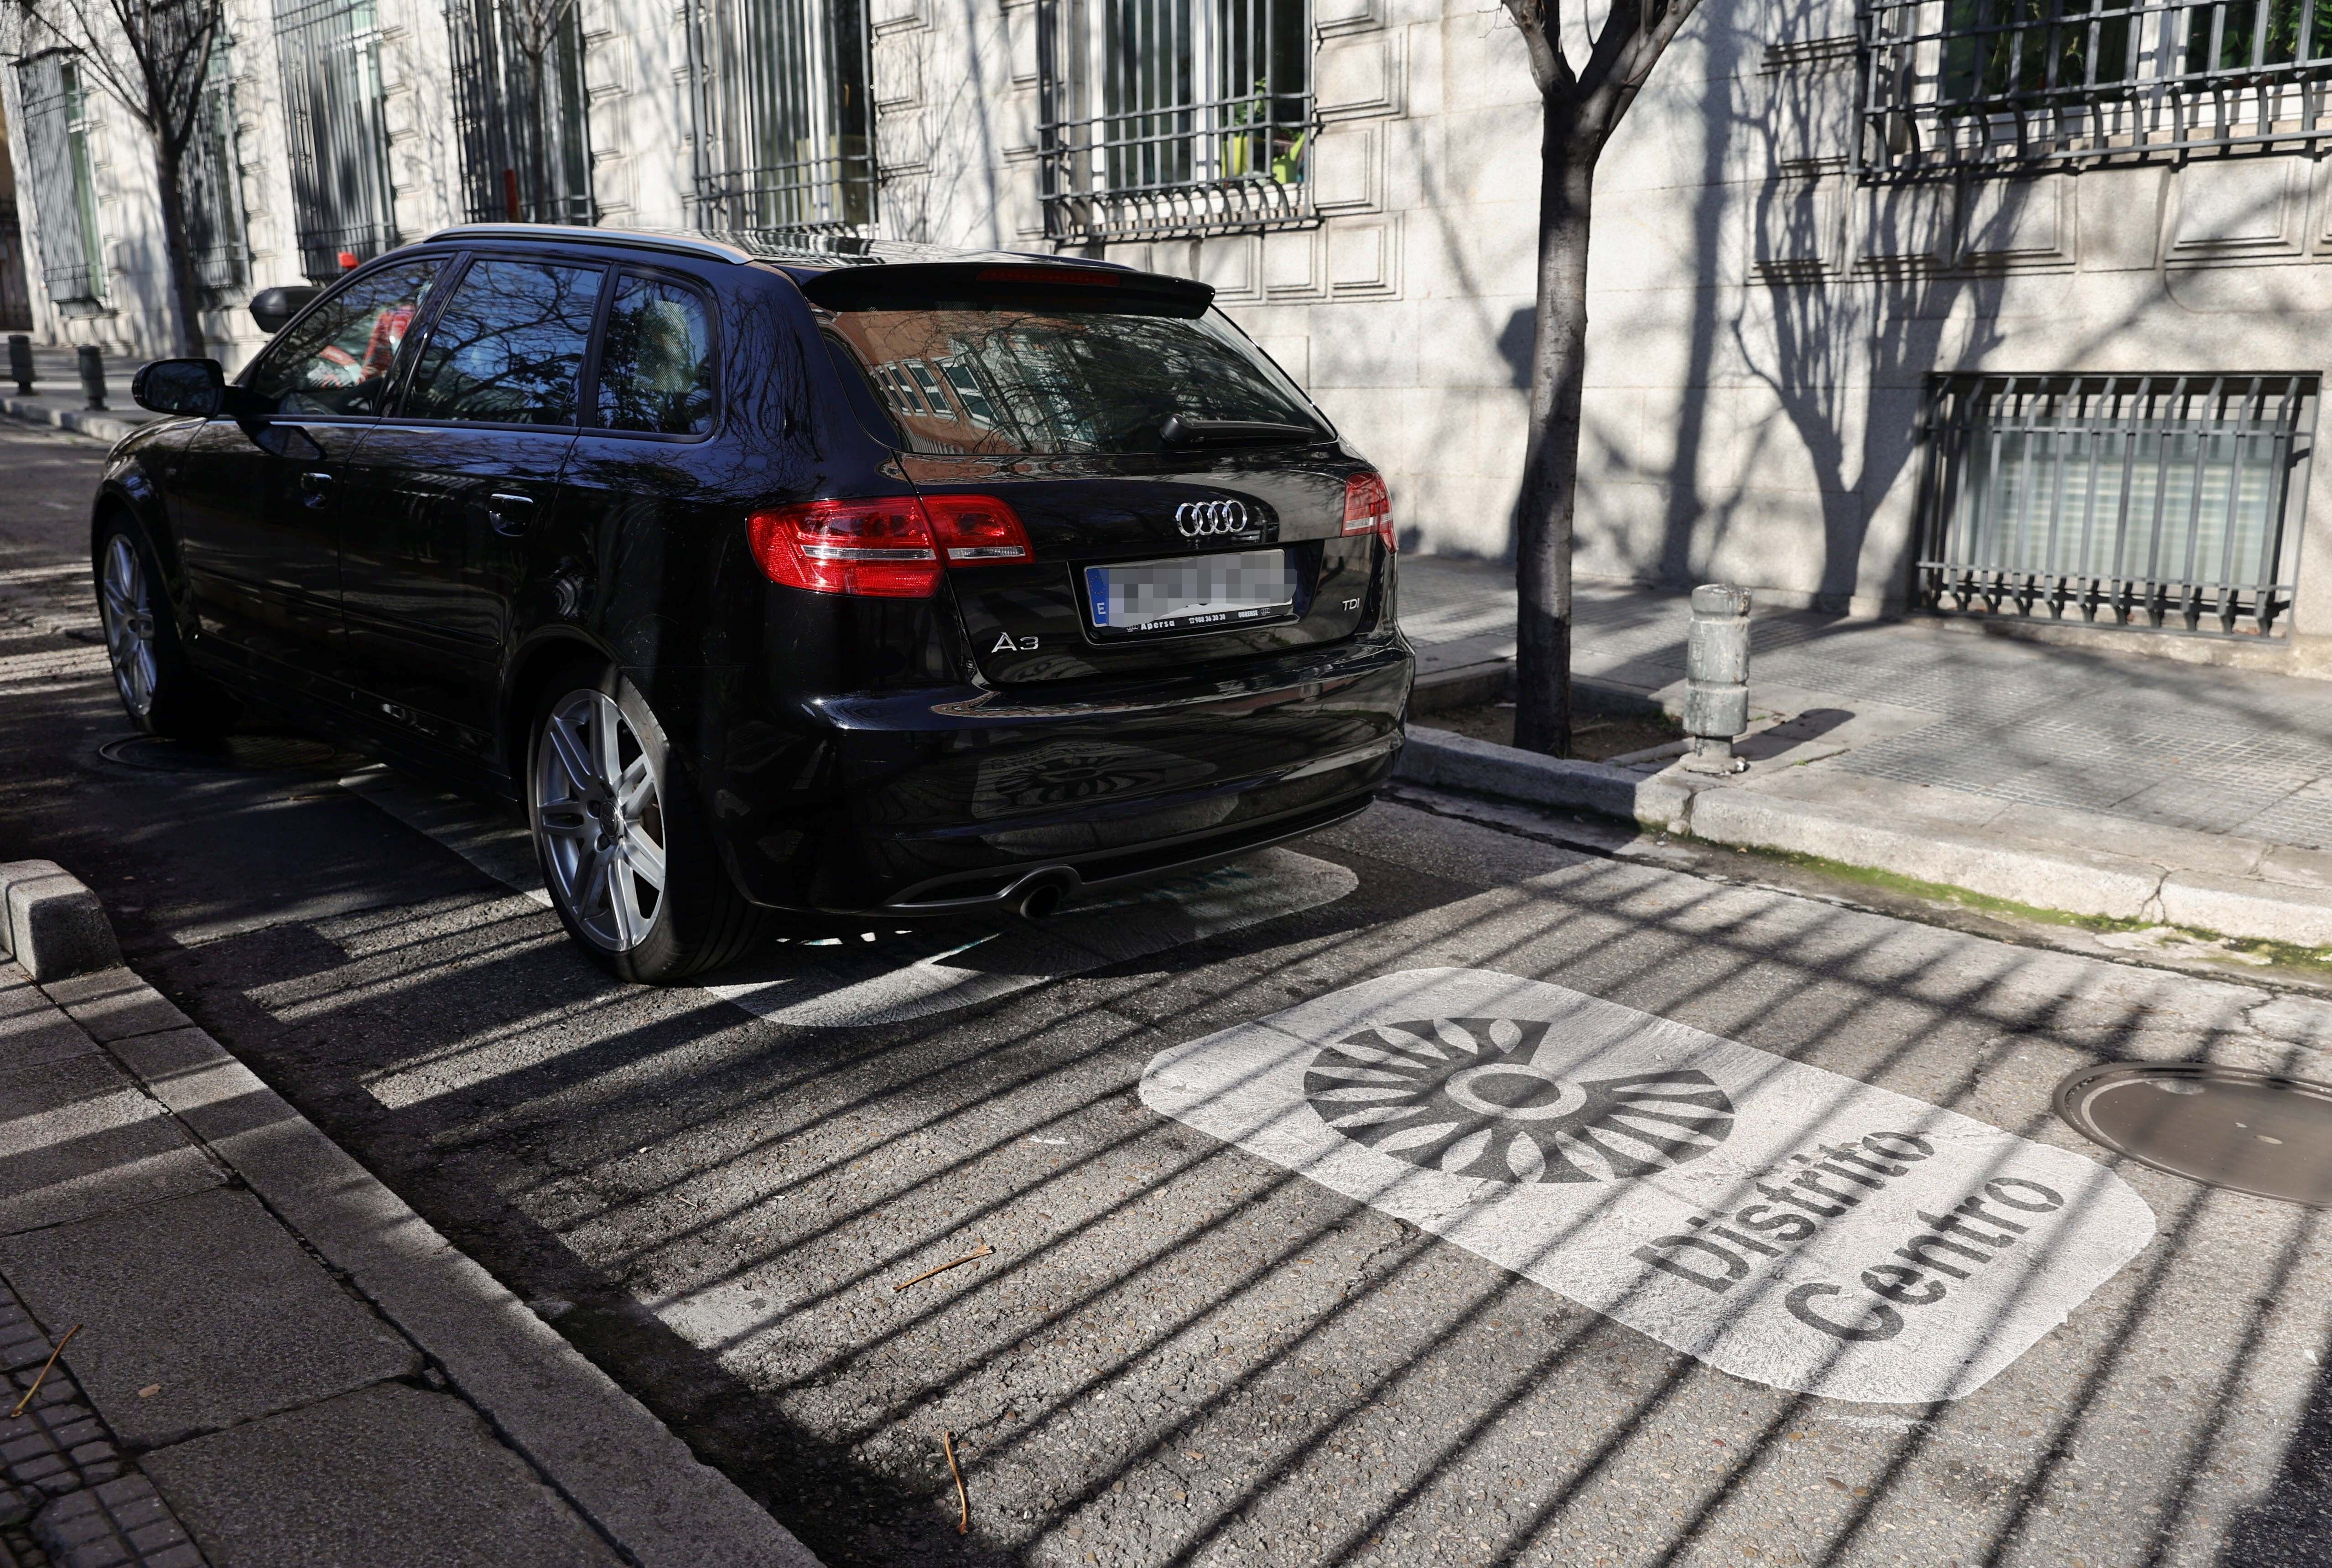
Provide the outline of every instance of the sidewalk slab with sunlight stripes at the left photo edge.
[[96,1050],[0,1073],[0,1234],[222,1181],[163,1108]]

